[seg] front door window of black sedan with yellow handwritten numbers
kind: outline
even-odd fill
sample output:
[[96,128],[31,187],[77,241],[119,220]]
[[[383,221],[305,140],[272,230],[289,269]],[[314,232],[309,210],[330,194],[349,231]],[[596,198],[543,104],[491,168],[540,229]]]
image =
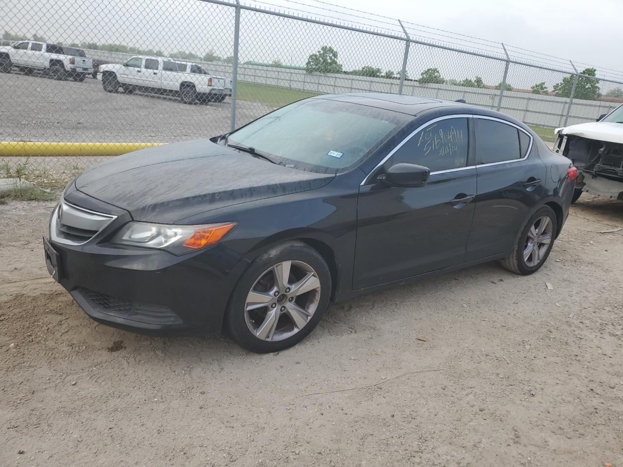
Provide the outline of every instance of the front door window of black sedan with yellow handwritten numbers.
[[394,163],[428,167],[431,172],[467,166],[467,118],[435,121],[411,136],[392,156]]

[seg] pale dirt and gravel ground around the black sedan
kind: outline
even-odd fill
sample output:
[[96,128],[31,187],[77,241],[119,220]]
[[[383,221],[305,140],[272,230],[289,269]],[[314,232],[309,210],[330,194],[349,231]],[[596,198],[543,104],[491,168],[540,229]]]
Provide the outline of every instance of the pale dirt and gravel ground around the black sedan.
[[51,208],[0,205],[1,466],[623,466],[623,203],[584,195],[532,276],[363,296],[262,356],[91,321]]

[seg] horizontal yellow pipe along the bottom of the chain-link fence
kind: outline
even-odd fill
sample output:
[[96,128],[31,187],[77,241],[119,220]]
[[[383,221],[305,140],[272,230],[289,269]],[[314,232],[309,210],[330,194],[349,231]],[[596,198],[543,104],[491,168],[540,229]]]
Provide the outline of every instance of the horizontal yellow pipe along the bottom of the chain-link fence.
[[166,143],[39,143],[0,141],[0,157],[119,156]]

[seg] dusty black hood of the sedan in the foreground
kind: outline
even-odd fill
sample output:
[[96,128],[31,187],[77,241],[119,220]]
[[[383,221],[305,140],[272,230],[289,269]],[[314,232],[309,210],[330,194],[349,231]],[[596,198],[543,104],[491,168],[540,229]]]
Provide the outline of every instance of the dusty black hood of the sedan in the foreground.
[[196,139],[124,154],[87,169],[75,187],[128,210],[135,220],[174,224],[228,205],[319,188],[333,177]]

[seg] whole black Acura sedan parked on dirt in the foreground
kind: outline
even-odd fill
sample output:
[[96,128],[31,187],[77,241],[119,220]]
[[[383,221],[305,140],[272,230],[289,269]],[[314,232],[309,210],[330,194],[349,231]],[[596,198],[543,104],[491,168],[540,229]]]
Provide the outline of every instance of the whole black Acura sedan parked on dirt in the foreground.
[[577,176],[502,113],[326,95],[88,169],[50,217],[45,257],[97,321],[224,328],[277,351],[331,301],[493,260],[535,272]]

